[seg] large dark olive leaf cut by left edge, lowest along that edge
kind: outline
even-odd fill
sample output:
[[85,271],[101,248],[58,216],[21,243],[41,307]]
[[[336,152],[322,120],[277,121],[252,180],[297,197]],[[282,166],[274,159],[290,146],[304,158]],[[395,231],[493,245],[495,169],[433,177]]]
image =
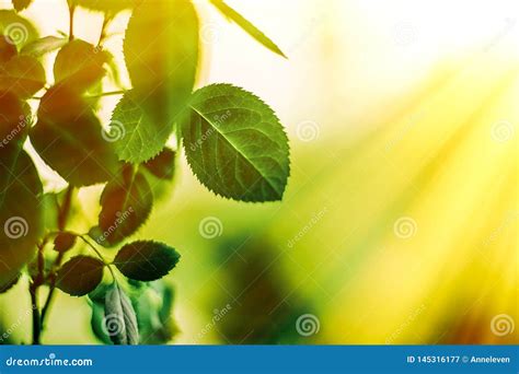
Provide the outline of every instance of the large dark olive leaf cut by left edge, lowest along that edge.
[[35,254],[43,229],[43,186],[19,144],[0,147],[0,284],[5,284]]

